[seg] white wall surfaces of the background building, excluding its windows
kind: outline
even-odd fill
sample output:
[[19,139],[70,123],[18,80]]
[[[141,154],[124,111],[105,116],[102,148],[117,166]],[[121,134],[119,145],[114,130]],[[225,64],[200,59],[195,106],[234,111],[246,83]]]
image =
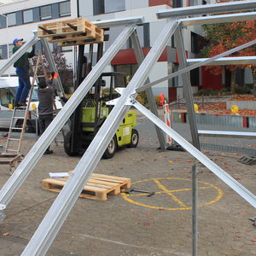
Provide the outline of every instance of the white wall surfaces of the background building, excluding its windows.
[[[15,12],[20,9],[31,9],[33,7],[43,6],[47,5],[49,3],[60,3],[63,0],[20,0],[19,3],[12,3],[0,6],[0,14],[6,14],[10,12]],[[201,1],[201,0],[199,0]],[[215,0],[209,0],[209,1],[215,1]],[[186,2],[186,1],[184,1]],[[149,34],[150,34],[150,46],[152,46],[158,38],[158,35],[161,31],[161,29],[165,26],[166,20],[157,20],[156,12],[160,9],[169,9],[170,7],[168,5],[158,5],[158,6],[152,6],[148,7],[148,0],[125,0],[125,11],[119,11],[104,15],[93,15],[93,0],[84,0],[80,1],[81,6],[79,7],[79,12],[82,16],[84,16],[88,20],[108,20],[108,19],[119,19],[119,18],[125,18],[125,17],[131,17],[131,16],[144,16],[145,22],[149,22]],[[67,20],[76,18],[78,15],[78,8],[77,8],[77,0],[71,0],[71,16],[69,17],[63,17],[55,20],[45,20],[40,22],[48,23],[58,20]],[[39,24],[40,24],[39,23]],[[0,29],[0,45],[2,44],[12,44],[12,41],[14,38],[24,38],[24,40],[28,40],[29,38],[32,38],[32,31],[36,30],[38,27],[38,23],[32,23],[32,24],[26,24],[22,26],[13,26],[9,27],[8,29]],[[138,35],[139,38],[143,44],[143,33],[142,33],[142,26],[138,27]],[[191,54],[191,40],[190,40],[190,30],[193,30],[194,27],[189,27],[188,30],[184,30],[184,44],[185,49],[189,51],[189,57]],[[121,27],[114,28],[112,36],[113,38],[116,38],[115,35],[118,35],[119,32],[122,30]],[[108,46],[113,43],[113,38],[110,38],[110,41],[106,43],[106,49],[108,49]],[[127,47],[127,44],[125,44],[124,48]],[[72,64],[74,63],[74,57],[73,52],[67,52],[65,53],[67,57],[67,62]],[[4,65],[4,62],[6,60],[0,60],[0,67]],[[113,71],[113,67],[107,67],[106,70]],[[9,68],[8,74],[15,73],[14,68]],[[155,79],[160,79],[163,76],[166,76],[168,74],[167,72],[167,62],[158,62],[156,63],[154,69],[150,73],[150,79],[154,81]],[[182,85],[182,81],[179,78],[179,85]],[[160,90],[165,90],[165,95],[167,92],[167,81],[163,82],[161,84],[158,84],[154,88],[154,94],[159,94]]]

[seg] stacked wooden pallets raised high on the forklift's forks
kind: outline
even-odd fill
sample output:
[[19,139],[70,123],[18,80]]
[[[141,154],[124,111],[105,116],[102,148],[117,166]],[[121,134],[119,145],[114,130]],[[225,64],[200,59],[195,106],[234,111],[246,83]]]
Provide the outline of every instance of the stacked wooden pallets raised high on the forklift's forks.
[[39,25],[38,38],[49,38],[49,43],[58,43],[61,47],[97,44],[103,42],[104,31],[80,17]]

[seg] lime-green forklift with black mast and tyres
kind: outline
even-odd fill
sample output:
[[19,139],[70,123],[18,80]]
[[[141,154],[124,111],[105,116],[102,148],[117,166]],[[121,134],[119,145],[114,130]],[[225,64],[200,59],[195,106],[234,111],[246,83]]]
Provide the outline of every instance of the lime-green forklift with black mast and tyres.
[[[84,44],[79,45],[77,79],[74,90],[78,88],[86,75],[90,73],[93,60],[93,45],[90,44],[89,61],[87,61],[87,57],[84,55]],[[96,61],[100,60],[102,52],[103,43],[97,44]],[[107,84],[106,79],[110,82],[110,86],[108,91],[105,89],[104,92]],[[70,131],[64,137],[64,149],[67,155],[75,156],[84,154],[84,151],[88,148],[113,108],[113,106],[107,106],[106,102],[119,97],[119,94],[114,92],[114,84],[117,84],[118,79],[123,80],[123,84],[118,84],[115,87],[126,87],[125,73],[102,73],[84,97],[84,100],[79,104],[79,107],[71,117]],[[102,158],[112,158],[118,148],[125,146],[136,148],[139,141],[138,132],[134,128],[136,125],[136,112],[130,110],[119,125]]]

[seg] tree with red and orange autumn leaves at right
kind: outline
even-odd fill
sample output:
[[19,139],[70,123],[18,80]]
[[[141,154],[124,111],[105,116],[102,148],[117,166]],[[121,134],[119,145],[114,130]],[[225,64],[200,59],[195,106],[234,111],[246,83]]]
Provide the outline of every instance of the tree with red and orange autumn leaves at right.
[[[220,0],[218,3],[230,2],[228,0]],[[208,41],[207,46],[201,50],[201,56],[212,57],[233,49],[241,44],[256,39],[255,20],[248,21],[236,21],[232,23],[218,23],[212,25],[202,26],[206,33],[206,39]],[[229,56],[253,56],[256,52],[256,45],[241,49],[239,52],[233,53]],[[227,65],[226,69],[231,72],[231,88],[235,88],[235,75],[237,69],[251,69],[253,72],[253,96],[256,96],[256,66],[255,65]],[[221,66],[208,66],[207,69],[213,74],[222,73]]]

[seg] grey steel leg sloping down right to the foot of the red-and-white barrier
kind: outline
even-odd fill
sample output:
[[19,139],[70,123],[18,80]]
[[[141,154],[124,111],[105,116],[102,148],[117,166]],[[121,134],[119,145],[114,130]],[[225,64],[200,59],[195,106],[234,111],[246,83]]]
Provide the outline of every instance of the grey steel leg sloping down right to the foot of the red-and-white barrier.
[[[134,48],[135,51],[135,55],[137,57],[137,63],[138,65],[141,65],[143,63],[144,60],[144,56],[143,56],[143,50],[142,47],[140,45],[140,42],[137,38],[137,32],[133,32],[131,34],[131,43],[132,46]],[[149,78],[146,80],[146,83],[149,83],[150,80]],[[147,98],[148,98],[148,104],[149,104],[149,108],[152,111],[152,113],[154,113],[154,115],[158,116],[158,111],[157,111],[157,107],[156,107],[156,103],[154,100],[154,95],[153,95],[153,91],[151,88],[148,88],[147,90],[145,90]],[[166,142],[165,142],[165,137],[163,132],[159,129],[159,127],[157,125],[155,125],[155,131],[160,143],[160,148],[162,149],[166,149]]]

